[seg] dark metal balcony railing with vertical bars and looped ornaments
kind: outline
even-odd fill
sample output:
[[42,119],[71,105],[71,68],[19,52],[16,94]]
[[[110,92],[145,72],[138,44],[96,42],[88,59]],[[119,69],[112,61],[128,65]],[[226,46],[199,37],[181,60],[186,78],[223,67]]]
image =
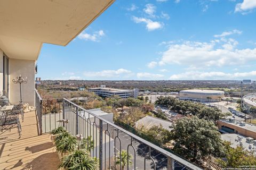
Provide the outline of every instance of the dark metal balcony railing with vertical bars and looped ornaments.
[[[86,144],[90,146],[87,149],[92,148],[88,149],[89,154],[99,160],[101,170],[122,169],[116,164],[116,157],[121,157],[122,150],[132,155],[132,165],[126,165],[125,169],[202,169],[65,98],[42,99],[37,90],[35,94],[40,134],[65,126],[74,136],[82,134],[84,138],[91,138],[93,142],[87,140]],[[61,119],[68,123],[58,122]]]

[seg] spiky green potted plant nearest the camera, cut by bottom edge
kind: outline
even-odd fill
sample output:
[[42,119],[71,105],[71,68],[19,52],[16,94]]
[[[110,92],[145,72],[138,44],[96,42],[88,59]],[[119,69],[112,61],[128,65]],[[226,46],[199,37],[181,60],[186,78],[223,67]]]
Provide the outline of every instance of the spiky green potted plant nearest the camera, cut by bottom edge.
[[63,157],[59,168],[65,170],[97,170],[97,160],[91,158],[85,150],[75,150],[72,154]]

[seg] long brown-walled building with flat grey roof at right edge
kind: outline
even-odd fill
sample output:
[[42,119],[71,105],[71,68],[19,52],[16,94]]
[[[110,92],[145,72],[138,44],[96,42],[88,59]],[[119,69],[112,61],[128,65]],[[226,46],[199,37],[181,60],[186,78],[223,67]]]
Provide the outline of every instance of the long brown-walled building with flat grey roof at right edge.
[[222,131],[238,133],[245,137],[256,139],[256,125],[254,124],[236,121],[234,118],[228,118],[218,120],[217,126]]

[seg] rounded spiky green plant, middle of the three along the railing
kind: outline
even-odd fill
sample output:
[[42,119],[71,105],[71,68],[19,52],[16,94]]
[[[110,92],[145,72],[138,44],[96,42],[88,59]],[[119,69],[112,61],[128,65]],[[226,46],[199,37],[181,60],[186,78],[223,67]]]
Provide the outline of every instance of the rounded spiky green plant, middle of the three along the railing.
[[73,137],[69,133],[60,133],[55,138],[55,146],[57,152],[65,154],[67,152],[74,151],[77,147],[78,141],[76,137]]

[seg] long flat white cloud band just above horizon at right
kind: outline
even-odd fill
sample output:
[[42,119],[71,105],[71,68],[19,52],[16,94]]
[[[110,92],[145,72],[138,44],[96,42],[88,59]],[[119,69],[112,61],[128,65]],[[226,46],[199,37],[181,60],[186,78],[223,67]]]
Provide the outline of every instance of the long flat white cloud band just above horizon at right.
[[180,74],[173,74],[170,80],[241,80],[256,77],[256,71],[251,72],[198,72],[188,71]]

